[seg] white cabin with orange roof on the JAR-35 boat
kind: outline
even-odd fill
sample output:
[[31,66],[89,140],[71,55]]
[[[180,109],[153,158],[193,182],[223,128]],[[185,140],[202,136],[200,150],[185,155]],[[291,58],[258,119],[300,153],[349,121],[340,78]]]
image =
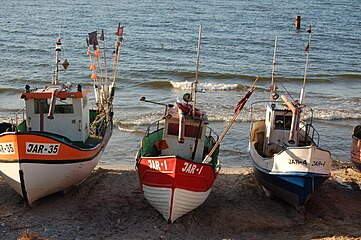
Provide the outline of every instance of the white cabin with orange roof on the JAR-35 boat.
[[43,89],[26,87],[26,129],[59,134],[71,141],[85,142],[89,137],[90,89],[82,91],[78,85],[72,91],[65,85],[49,85]]

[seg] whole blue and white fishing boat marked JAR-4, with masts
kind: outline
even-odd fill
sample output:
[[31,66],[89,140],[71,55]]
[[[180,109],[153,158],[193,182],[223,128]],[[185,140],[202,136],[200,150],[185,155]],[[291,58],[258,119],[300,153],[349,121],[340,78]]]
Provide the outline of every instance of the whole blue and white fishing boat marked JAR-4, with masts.
[[249,140],[254,174],[266,195],[277,196],[299,210],[304,209],[312,193],[330,177],[332,164],[330,152],[319,147],[319,133],[312,124],[312,108],[304,103],[311,27],[309,33],[299,101],[290,101],[286,95],[279,97],[277,92],[276,38],[270,100],[252,103]]

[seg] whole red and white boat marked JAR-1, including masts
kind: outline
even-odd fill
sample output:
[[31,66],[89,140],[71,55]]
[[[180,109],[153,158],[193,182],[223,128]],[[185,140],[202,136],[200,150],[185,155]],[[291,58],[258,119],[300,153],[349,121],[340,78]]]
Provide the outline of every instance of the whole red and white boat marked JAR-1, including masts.
[[[206,112],[196,108],[200,39],[201,28],[193,96],[186,93],[184,102],[164,104],[163,118],[148,127],[136,156],[145,198],[170,223],[207,199],[220,171],[219,144],[253,92],[252,87],[218,137],[208,127]],[[145,97],[141,101],[156,103]]]

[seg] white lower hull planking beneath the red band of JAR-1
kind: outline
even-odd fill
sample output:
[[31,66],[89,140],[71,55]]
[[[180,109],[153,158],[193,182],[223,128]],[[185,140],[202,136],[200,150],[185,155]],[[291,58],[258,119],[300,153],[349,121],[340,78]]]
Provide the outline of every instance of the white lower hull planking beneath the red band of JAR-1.
[[[206,192],[194,192],[176,188],[150,187],[143,184],[147,201],[171,223],[205,202],[212,188]],[[173,194],[173,197],[172,197]]]

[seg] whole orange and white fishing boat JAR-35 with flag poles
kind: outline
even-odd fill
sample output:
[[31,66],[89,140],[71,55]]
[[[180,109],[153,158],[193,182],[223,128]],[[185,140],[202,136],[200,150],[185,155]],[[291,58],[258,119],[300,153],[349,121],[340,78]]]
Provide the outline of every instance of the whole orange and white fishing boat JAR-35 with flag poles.
[[[109,82],[106,74],[97,76],[97,65],[98,68],[103,65],[97,33],[90,33],[87,39],[95,89],[94,109],[90,104],[91,89],[59,81],[62,45],[59,36],[51,84],[42,88],[26,85],[21,93],[25,108],[17,112],[11,121],[1,124],[0,174],[29,204],[81,183],[98,164],[112,135],[113,99],[122,32],[119,25],[113,79]],[[100,40],[104,42],[103,32]],[[62,65],[66,70],[69,62],[65,59]],[[104,73],[105,62],[101,69]]]

